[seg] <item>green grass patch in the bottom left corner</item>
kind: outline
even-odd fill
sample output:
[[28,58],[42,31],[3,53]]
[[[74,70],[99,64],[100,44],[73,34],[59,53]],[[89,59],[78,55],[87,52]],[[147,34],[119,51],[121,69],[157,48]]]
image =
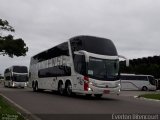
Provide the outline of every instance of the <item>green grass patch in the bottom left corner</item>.
[[0,120],[25,120],[16,109],[0,96]]

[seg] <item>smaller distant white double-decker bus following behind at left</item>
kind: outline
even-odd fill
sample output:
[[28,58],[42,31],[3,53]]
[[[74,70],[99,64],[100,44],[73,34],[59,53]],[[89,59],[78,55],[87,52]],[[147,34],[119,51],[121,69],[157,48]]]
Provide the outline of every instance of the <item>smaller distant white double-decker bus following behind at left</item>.
[[24,88],[28,83],[28,69],[26,66],[11,66],[4,71],[4,87]]

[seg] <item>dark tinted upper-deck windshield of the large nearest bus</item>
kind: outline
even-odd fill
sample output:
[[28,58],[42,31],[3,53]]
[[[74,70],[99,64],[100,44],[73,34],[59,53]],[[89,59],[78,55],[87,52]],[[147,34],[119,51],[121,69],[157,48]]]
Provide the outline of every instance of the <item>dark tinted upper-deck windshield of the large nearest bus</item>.
[[111,55],[116,56],[117,50],[113,42],[109,39],[98,38],[92,36],[79,36],[72,38],[71,49],[72,53],[78,50],[85,50],[91,53],[101,54],[101,55]]

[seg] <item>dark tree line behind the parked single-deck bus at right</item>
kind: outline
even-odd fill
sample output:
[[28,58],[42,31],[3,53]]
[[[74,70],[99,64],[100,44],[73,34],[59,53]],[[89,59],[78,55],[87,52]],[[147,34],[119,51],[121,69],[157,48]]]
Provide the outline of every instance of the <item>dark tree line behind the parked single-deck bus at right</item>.
[[121,73],[153,75],[160,78],[160,56],[132,59],[129,62],[129,67],[126,67],[125,61],[120,61]]

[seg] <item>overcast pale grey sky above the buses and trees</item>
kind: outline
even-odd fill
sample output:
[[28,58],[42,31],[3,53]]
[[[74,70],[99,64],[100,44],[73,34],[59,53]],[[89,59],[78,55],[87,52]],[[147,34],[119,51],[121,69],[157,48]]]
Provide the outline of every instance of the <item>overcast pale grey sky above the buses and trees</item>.
[[1,55],[2,74],[77,35],[111,39],[128,59],[160,55],[159,0],[0,0],[0,18],[29,47],[25,57]]

